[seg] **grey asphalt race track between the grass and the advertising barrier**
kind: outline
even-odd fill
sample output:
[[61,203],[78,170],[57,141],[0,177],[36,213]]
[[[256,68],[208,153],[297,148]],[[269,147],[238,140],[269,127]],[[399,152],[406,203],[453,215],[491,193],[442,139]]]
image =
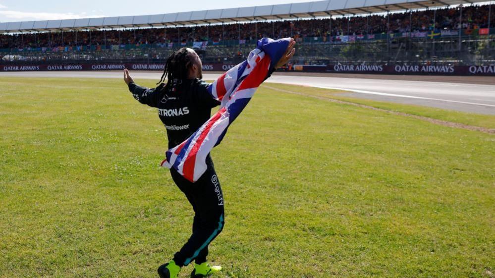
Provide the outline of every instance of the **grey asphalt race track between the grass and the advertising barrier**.
[[[136,79],[160,79],[160,72],[132,71]],[[213,80],[220,73],[204,73],[205,80]],[[306,74],[307,75],[307,74]],[[120,71],[25,71],[1,72],[0,76],[22,77],[79,77],[79,78],[122,78]],[[344,75],[342,75],[344,76]],[[478,77],[479,80],[480,77]],[[436,107],[448,110],[495,115],[495,81],[494,77],[481,77],[488,82],[462,83],[450,81],[411,81],[387,79],[386,76],[373,78],[365,75],[336,74],[325,76],[295,76],[274,74],[266,82],[297,84],[319,88],[341,89],[349,91],[346,96],[377,101]],[[413,79],[413,78],[411,78]],[[414,78],[417,79],[417,78]],[[431,79],[431,78],[430,78]],[[442,80],[442,77],[438,78]],[[491,85],[488,85],[491,84]]]

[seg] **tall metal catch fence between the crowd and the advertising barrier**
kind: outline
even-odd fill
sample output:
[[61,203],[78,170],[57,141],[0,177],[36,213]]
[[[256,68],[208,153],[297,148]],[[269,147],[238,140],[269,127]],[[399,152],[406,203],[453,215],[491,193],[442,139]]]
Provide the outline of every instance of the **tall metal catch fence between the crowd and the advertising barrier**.
[[[204,62],[239,62],[254,47],[255,41],[224,42],[207,45],[197,52]],[[10,50],[2,52],[2,64],[50,62],[163,62],[178,46],[141,45],[112,48],[89,47],[80,49]],[[373,40],[342,42],[318,38],[299,42],[294,63],[366,63],[418,64],[448,63],[456,65],[495,64],[495,35],[470,34],[462,36],[387,36]]]

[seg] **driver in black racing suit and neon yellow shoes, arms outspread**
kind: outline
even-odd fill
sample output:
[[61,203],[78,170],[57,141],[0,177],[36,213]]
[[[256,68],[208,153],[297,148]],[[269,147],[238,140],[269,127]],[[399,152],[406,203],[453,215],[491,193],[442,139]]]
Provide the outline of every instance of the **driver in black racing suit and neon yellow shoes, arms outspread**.
[[[267,78],[289,60],[295,52],[293,40],[285,55],[269,71]],[[213,99],[207,88],[209,83],[201,80],[202,62],[192,49],[182,48],[168,57],[160,85],[154,89],[134,83],[127,69],[124,81],[132,95],[142,104],[158,108],[167,137],[168,148],[173,148],[201,127],[211,116],[212,108],[220,102]],[[167,78],[167,82],[163,83]],[[173,259],[158,269],[161,278],[175,278],[182,266],[195,261],[193,278],[206,277],[221,270],[207,263],[208,245],[221,232],[224,224],[223,194],[210,155],[207,156],[206,172],[196,181],[190,182],[174,168],[170,169],[173,181],[186,195],[195,216],[192,235],[175,253]]]

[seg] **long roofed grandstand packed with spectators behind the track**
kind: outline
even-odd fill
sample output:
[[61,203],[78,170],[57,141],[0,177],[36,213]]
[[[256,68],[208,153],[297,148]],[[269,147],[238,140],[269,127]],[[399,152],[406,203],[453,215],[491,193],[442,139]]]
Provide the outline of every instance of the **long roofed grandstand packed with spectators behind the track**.
[[2,65],[159,64],[182,46],[205,69],[244,59],[261,37],[294,37],[296,64],[495,63],[483,1],[326,0],[157,15],[0,23]]

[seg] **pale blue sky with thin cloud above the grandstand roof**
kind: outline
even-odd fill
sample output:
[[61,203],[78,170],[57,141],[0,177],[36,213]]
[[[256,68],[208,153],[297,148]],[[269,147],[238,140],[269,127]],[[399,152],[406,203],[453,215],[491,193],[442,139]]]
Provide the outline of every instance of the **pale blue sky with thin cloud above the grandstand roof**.
[[310,0],[0,0],[0,22],[143,15],[307,1]]

